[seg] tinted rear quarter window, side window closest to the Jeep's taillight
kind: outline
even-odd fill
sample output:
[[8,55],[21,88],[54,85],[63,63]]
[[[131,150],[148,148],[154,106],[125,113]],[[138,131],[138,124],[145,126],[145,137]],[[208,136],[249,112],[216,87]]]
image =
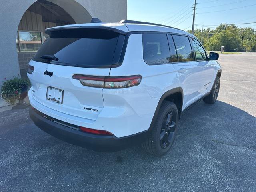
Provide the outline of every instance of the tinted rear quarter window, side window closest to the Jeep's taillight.
[[170,62],[170,50],[166,34],[142,34],[143,56],[147,64]]

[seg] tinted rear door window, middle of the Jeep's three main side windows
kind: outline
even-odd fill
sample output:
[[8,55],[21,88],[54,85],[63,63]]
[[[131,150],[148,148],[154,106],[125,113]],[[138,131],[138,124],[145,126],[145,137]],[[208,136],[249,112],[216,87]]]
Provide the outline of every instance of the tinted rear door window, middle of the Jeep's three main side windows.
[[178,53],[179,62],[193,61],[194,60],[193,52],[192,52],[188,37],[173,35],[173,40]]

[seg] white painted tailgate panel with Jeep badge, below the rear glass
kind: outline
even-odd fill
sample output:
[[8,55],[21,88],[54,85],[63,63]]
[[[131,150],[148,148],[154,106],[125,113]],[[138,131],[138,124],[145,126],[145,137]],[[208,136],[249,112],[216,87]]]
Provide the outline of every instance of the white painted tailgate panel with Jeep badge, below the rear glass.
[[[109,69],[81,69],[35,61],[31,61],[30,65],[35,68],[32,75],[28,74],[28,77],[32,83],[32,96],[37,102],[59,112],[96,120],[104,106],[102,88],[85,87],[79,80],[72,79],[72,75],[82,73],[108,76]],[[45,70],[53,72],[53,75],[51,77],[44,75]],[[50,91],[50,88],[52,88],[52,91]],[[63,90],[63,94],[58,95],[58,90],[54,92],[53,88]],[[48,100],[54,97],[56,100],[62,100],[62,104],[61,102],[57,103]],[[88,110],[86,108],[96,110]]]

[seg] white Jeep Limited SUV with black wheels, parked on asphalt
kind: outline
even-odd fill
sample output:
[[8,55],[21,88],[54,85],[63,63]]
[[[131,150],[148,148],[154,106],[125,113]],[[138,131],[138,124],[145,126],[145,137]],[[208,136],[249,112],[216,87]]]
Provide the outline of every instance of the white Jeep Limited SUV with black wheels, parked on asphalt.
[[[95,22],[96,21],[96,22]],[[165,154],[181,114],[220,87],[217,53],[183,30],[122,20],[58,26],[29,63],[30,117],[85,148]]]

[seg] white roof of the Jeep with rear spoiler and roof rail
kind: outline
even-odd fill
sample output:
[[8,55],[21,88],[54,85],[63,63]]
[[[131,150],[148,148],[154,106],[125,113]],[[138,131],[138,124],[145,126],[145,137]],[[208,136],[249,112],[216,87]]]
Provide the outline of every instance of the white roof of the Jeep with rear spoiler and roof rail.
[[122,20],[119,23],[84,23],[84,24],[71,24],[64,25],[58,27],[52,27],[45,30],[46,34],[50,34],[53,30],[67,29],[67,28],[103,28],[114,30],[121,34],[126,34],[128,32],[136,32],[136,31],[152,31],[152,32],[170,32],[170,33],[178,33],[189,36],[194,36],[188,32],[183,30],[173,28],[170,26],[164,26],[160,24],[153,24],[147,22],[137,22],[130,20]]

